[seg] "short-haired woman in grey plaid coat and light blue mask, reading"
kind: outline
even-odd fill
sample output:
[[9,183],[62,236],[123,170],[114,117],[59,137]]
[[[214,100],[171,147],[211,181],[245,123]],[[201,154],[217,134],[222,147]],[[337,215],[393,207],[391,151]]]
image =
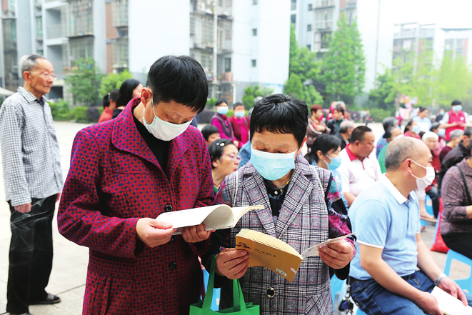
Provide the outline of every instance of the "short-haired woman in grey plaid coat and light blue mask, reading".
[[216,261],[220,308],[231,306],[232,281],[239,279],[246,302],[261,306],[261,314],[332,314],[331,267],[346,279],[356,242],[353,236],[323,247],[319,256],[303,259],[292,282],[263,267],[248,268],[248,254],[236,251],[235,236],[251,229],[274,236],[299,253],[328,239],[351,233],[351,223],[331,173],[310,166],[301,156],[306,141],[307,106],[274,94],[254,106],[251,116],[251,160],[221,183],[215,203],[229,206],[262,204],[245,214],[234,229],[211,236],[202,257],[209,269]]

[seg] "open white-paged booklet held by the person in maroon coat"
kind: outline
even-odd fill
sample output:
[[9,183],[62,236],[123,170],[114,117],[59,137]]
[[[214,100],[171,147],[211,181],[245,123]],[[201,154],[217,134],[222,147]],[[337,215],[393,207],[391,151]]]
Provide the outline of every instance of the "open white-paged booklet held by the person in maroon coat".
[[231,208],[226,204],[204,206],[201,208],[164,212],[156,220],[173,224],[177,228],[175,234],[181,234],[185,226],[205,224],[206,231],[233,228],[246,212],[264,209],[263,206],[237,206]]

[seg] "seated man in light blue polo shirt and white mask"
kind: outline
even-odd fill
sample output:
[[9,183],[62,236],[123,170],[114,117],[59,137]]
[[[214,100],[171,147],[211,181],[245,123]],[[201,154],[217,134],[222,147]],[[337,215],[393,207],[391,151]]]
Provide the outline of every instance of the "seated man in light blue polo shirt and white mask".
[[386,151],[386,174],[349,209],[359,243],[349,274],[351,295],[368,314],[443,314],[431,294],[434,286],[464,305],[472,303],[472,296],[442,273],[421,240],[414,190],[433,181],[431,161],[423,141],[393,141]]

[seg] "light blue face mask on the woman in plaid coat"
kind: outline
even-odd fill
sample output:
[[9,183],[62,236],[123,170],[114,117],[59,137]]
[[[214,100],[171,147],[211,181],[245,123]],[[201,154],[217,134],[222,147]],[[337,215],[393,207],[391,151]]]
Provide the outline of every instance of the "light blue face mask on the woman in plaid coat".
[[276,181],[295,169],[295,152],[268,153],[251,147],[251,163],[264,179]]

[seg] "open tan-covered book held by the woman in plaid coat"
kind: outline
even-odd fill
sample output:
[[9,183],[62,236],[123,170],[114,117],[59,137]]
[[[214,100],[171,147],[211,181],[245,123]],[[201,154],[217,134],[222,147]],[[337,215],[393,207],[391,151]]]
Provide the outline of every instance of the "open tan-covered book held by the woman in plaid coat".
[[303,253],[298,254],[298,251],[280,239],[258,231],[241,229],[241,231],[236,234],[236,249],[250,253],[248,261],[249,267],[266,267],[291,282],[303,259],[309,256],[318,256],[318,250],[322,246],[331,243],[340,243],[350,235],[352,234],[344,235],[336,239],[328,239],[328,241],[313,245],[304,250]]

